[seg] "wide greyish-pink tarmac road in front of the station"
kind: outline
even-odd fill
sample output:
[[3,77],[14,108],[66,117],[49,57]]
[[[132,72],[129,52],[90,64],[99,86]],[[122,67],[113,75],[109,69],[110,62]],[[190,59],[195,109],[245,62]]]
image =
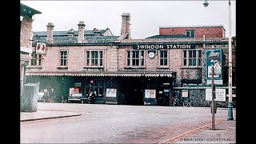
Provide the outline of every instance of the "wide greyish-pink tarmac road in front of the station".
[[[39,111],[79,115],[21,122],[21,143],[168,143],[211,126],[209,107],[38,102]],[[226,117],[227,109],[218,108],[215,121]]]

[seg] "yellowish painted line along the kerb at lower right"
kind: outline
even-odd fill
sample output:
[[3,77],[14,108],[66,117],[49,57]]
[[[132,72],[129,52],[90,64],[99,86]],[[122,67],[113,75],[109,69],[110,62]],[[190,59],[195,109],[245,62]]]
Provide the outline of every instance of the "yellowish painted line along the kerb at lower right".
[[[223,121],[224,120],[219,120],[219,121],[215,122],[215,125],[217,125],[217,124],[219,124],[219,123],[221,123]],[[194,130],[187,131],[186,133],[179,134],[179,135],[177,135],[174,138],[169,138],[169,139],[166,139],[166,140],[164,140],[162,142],[158,142],[158,143],[160,144],[160,143],[174,143],[174,142],[177,142],[180,138],[184,138],[184,137],[186,137],[186,136],[188,136],[190,134],[197,133],[198,131],[200,131],[202,129],[205,129],[207,126],[211,126],[211,123],[209,123],[209,124],[207,124],[205,126],[198,127],[198,128],[196,128]]]

